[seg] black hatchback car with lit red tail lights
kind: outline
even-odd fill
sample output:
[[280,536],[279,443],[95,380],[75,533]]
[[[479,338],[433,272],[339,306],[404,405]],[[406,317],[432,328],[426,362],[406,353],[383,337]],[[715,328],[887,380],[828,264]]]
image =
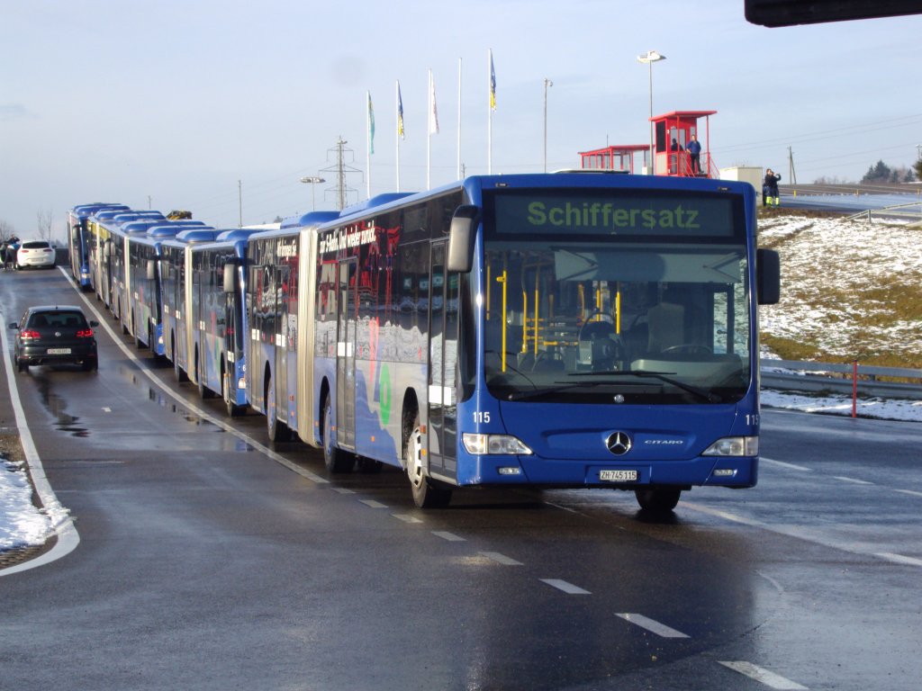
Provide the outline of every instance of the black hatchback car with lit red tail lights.
[[42,305],[26,310],[16,329],[14,355],[20,372],[30,365],[73,363],[83,369],[98,369],[96,336],[92,327],[99,322],[88,322],[78,307],[70,305]]

